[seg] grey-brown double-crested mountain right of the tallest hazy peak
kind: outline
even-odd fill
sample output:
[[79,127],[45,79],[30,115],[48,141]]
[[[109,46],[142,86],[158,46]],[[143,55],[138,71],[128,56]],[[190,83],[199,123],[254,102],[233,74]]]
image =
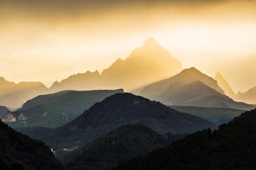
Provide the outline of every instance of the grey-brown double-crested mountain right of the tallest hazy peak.
[[195,68],[185,69],[180,74],[145,86],[141,93],[151,100],[165,105],[233,108],[251,110],[255,106],[234,102],[224,95],[217,81]]

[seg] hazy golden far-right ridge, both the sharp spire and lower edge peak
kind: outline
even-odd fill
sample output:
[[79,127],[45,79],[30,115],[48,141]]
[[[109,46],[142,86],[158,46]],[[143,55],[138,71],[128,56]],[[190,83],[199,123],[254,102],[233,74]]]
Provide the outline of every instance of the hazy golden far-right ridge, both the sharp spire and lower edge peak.
[[225,91],[225,94],[230,96],[235,101],[249,104],[256,103],[256,87],[250,88],[244,93],[239,91],[237,94],[235,94],[234,91],[230,88],[228,82],[222,77],[220,73],[217,73],[214,79],[217,80],[218,85]]

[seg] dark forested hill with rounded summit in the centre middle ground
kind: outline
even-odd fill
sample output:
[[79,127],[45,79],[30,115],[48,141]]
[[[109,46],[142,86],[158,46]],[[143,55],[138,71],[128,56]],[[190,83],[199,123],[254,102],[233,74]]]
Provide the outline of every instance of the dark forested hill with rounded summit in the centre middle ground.
[[[158,133],[191,133],[207,127],[217,128],[206,119],[175,111],[160,102],[133,94],[117,93],[94,104],[67,125],[33,137],[55,148],[56,157],[61,158],[64,156],[61,152],[64,148],[82,147],[119,126],[138,123]],[[31,129],[23,129],[21,132],[35,134]]]

